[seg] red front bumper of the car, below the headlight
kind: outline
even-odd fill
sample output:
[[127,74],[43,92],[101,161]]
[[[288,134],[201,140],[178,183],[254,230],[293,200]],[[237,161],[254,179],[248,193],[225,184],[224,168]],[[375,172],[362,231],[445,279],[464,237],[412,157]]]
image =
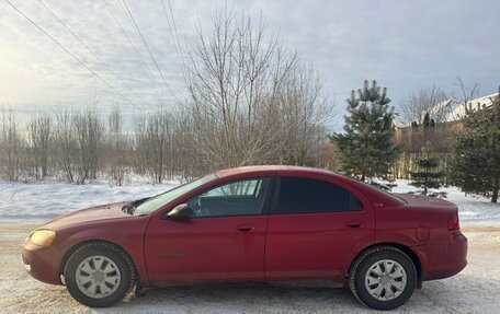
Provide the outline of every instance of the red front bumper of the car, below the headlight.
[[32,243],[24,244],[22,259],[26,271],[35,279],[63,284],[59,276],[59,251],[54,247],[42,247]]

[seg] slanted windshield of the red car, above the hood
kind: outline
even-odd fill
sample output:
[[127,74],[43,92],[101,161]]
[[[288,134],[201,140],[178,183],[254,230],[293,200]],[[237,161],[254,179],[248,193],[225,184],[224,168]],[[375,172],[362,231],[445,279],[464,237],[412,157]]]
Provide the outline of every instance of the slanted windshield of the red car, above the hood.
[[159,209],[160,207],[164,206],[166,203],[171,202],[172,200],[177,199],[178,197],[189,193],[192,189],[195,189],[205,183],[208,183],[211,181],[216,179],[217,176],[215,174],[209,174],[204,177],[194,179],[189,183],[184,183],[180,186],[177,186],[172,189],[169,189],[168,191],[164,191],[162,194],[159,194],[155,197],[151,197],[150,199],[146,200],[145,202],[140,203],[134,214],[136,216],[141,216],[141,214],[148,214],[154,212],[155,210]]

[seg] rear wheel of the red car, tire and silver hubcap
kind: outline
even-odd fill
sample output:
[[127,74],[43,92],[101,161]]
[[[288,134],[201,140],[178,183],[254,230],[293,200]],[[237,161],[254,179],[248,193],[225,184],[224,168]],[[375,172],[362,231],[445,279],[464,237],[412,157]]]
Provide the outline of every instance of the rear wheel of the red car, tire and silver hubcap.
[[374,247],[354,261],[349,272],[349,287],[364,305],[393,310],[401,306],[413,293],[417,269],[402,251],[391,246]]

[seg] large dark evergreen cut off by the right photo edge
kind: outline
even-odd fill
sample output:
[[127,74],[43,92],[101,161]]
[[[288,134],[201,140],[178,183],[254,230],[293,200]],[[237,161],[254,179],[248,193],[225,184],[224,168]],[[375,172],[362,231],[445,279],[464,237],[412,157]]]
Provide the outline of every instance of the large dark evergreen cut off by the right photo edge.
[[[500,89],[499,89],[500,93]],[[500,188],[500,98],[490,107],[466,108],[464,132],[453,144],[452,183],[465,193],[498,201]]]

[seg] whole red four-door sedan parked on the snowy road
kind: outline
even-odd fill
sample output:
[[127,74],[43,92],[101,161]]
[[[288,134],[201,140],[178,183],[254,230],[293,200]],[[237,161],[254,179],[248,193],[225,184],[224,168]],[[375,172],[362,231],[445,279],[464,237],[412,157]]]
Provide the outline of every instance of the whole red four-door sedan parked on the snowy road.
[[22,253],[34,278],[89,306],[136,284],[331,281],[377,310],[459,272],[466,255],[455,205],[295,166],[224,170],[71,212],[34,231]]

